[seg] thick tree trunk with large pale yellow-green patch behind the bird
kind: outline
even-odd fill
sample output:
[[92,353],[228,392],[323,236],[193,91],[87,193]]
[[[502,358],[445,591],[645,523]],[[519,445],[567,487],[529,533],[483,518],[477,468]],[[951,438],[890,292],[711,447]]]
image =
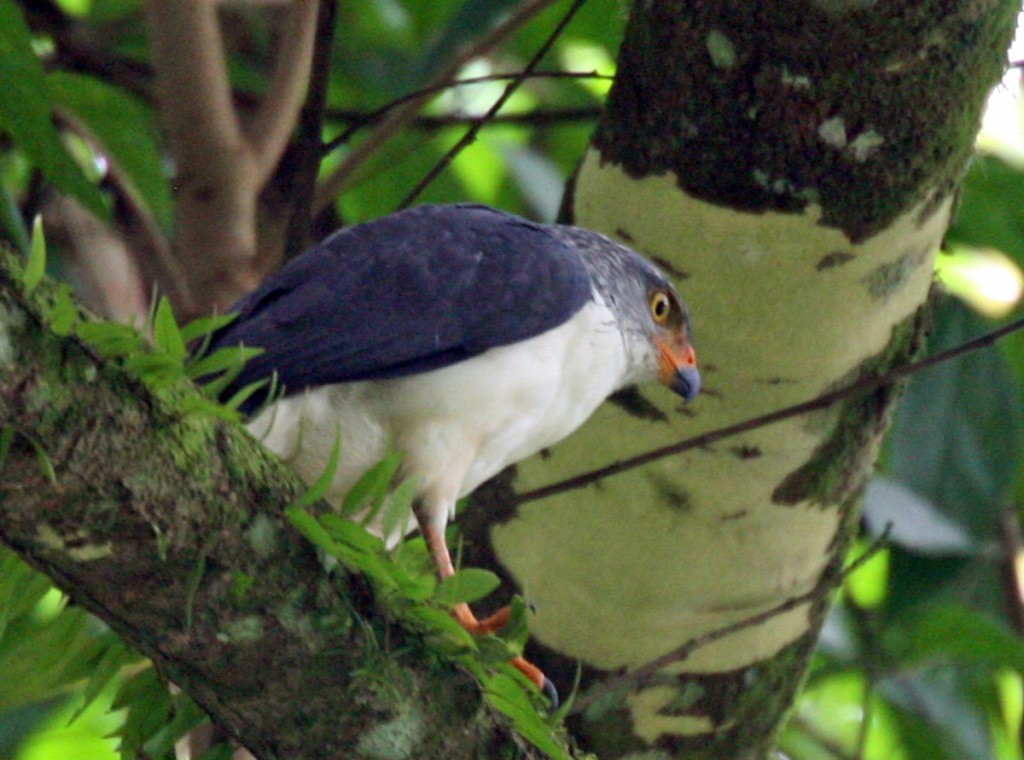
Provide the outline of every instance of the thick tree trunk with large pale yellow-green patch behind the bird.
[[[514,489],[912,356],[1018,10],[636,3],[566,207],[674,276],[707,390],[685,409],[659,390],[606,405],[521,465]],[[584,666],[585,709],[571,725],[585,749],[765,755],[806,670],[896,395],[865,393],[476,531],[481,554],[494,552],[536,609],[535,659],[563,680]],[[785,605],[802,595],[813,600]],[[731,625],[739,630],[653,674],[622,678]]]

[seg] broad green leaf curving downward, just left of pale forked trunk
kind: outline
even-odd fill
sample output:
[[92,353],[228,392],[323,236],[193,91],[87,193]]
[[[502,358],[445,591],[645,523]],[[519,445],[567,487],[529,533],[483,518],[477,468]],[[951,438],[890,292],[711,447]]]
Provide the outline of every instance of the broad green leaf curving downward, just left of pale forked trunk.
[[85,125],[127,180],[129,193],[161,227],[170,229],[174,202],[152,111],[120,87],[84,74],[56,71],[47,83],[54,104]]

